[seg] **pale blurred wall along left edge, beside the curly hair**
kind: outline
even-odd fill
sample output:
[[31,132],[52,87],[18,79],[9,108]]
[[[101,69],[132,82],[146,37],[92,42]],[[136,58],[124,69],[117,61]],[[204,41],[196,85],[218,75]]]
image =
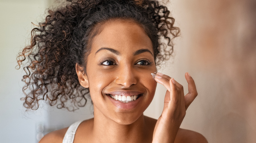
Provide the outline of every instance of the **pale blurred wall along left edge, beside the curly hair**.
[[0,0],[0,142],[36,143],[36,124],[46,120],[43,110],[25,113],[20,98],[24,72],[15,70],[16,56],[29,41],[31,22],[44,13],[46,1]]

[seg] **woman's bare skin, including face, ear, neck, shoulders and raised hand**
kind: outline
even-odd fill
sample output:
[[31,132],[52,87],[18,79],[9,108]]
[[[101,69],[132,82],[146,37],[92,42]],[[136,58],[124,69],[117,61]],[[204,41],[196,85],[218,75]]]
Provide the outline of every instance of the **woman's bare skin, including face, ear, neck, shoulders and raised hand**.
[[[173,78],[156,71],[151,40],[143,28],[131,21],[116,20],[104,25],[94,37],[87,58],[86,74],[78,69],[78,80],[90,89],[94,118],[83,121],[75,134],[79,142],[207,142],[199,133],[180,129],[189,104],[197,96],[192,77],[186,73],[189,93]],[[164,109],[158,120],[143,112],[151,103],[157,83],[167,89]],[[121,103],[109,94],[139,94],[136,101]],[[67,128],[47,134],[40,143],[62,142]]]

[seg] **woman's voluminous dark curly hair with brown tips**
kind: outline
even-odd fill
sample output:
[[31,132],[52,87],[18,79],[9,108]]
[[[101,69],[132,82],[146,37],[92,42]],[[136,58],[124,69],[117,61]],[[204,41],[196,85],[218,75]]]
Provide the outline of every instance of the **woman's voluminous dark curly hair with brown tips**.
[[[174,27],[167,7],[155,0],[67,0],[68,5],[49,10],[45,22],[31,31],[31,43],[17,56],[18,69],[26,61],[22,81],[23,105],[36,110],[39,101],[74,111],[90,99],[89,88],[79,84],[75,65],[86,72],[86,59],[94,36],[115,19],[141,25],[151,39],[156,64],[169,59]],[[160,42],[160,38],[167,42]]]

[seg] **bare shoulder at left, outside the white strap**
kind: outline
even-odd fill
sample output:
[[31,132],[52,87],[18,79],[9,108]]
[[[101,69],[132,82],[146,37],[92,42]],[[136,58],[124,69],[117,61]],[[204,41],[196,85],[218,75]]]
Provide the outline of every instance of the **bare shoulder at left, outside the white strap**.
[[68,128],[56,130],[46,134],[39,143],[62,143]]

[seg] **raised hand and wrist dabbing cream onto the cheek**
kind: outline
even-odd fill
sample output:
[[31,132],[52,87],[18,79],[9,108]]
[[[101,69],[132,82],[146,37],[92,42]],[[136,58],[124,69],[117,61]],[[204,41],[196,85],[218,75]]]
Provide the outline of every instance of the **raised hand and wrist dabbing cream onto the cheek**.
[[173,78],[157,73],[155,80],[166,89],[163,112],[157,120],[153,143],[173,143],[185,117],[186,109],[197,96],[196,85],[188,72],[185,73],[188,93],[184,96],[183,86]]

